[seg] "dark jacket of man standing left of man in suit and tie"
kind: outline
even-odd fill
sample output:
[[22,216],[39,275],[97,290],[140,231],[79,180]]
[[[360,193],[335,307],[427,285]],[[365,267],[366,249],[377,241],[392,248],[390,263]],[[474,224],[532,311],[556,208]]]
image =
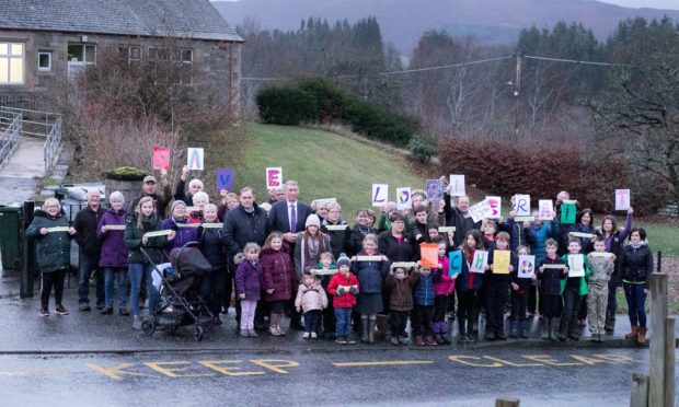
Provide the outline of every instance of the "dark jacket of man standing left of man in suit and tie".
[[243,252],[246,243],[256,243],[264,246],[268,235],[266,211],[256,203],[254,211],[248,212],[242,205],[227,212],[225,225],[221,230],[221,241],[231,255]]

